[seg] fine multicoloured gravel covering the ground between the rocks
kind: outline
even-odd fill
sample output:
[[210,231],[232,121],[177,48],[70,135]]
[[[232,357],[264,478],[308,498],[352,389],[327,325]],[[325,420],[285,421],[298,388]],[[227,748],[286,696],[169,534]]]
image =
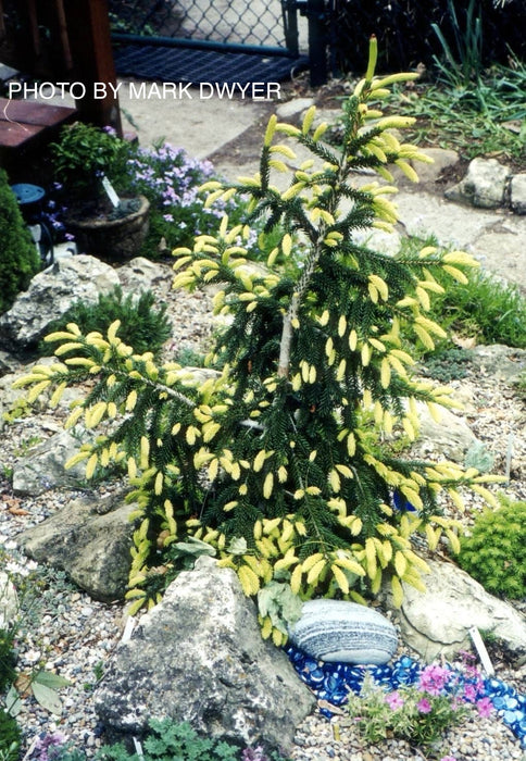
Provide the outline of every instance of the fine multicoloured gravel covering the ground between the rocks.
[[[166,267],[166,277],[170,276]],[[213,329],[209,317],[209,296],[201,292],[166,294],[163,289],[160,298],[166,299],[174,322],[174,338],[168,351],[175,348],[197,351],[205,348]],[[485,375],[476,367],[468,377],[450,385],[466,406],[466,419],[473,432],[496,456],[499,472],[503,472],[510,434],[514,433],[512,475],[504,491],[514,499],[526,499],[524,402],[503,382]],[[16,459],[24,457],[33,437],[41,439],[57,429],[57,420],[42,412],[37,416],[17,420],[3,432],[0,460],[0,546],[3,544],[9,556],[21,565],[24,565],[25,560],[17,554],[17,534],[45,520],[78,496],[78,492],[61,489],[47,491],[37,498],[17,497],[12,494],[7,477]],[[117,486],[107,485],[101,490],[112,490]],[[480,502],[474,498],[467,504],[464,520],[471,522],[479,509]],[[27,567],[30,566],[32,564]],[[60,689],[63,703],[60,715],[43,710],[30,695],[23,696],[18,720],[26,747],[30,746],[38,733],[60,729],[91,754],[101,744],[102,729],[92,709],[93,689],[97,682],[103,678],[104,664],[122,637],[123,606],[91,600],[71,585],[61,572],[37,567],[33,573],[39,581],[38,585],[32,584],[28,589],[26,602],[32,596],[35,599],[32,606],[26,606],[29,611],[23,621],[17,641],[18,669],[30,673],[36,664],[43,665],[47,670],[65,676],[71,684]],[[524,691],[524,668],[513,671],[505,662],[496,662],[496,666],[498,678],[510,682]],[[476,712],[469,721],[448,734],[444,749],[458,761],[526,759],[518,741],[502,722],[494,718],[483,719]],[[335,727],[334,723],[320,713],[309,716],[298,728],[292,752],[295,761],[398,761],[422,758],[425,757],[408,744],[394,740],[366,747],[352,728]]]

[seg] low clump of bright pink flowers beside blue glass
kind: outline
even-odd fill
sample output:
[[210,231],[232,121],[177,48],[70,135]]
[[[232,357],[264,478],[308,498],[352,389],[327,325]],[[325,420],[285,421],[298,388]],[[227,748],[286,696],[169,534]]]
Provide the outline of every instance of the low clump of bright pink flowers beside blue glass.
[[465,653],[459,669],[427,665],[414,684],[389,693],[366,674],[360,695],[349,696],[350,723],[367,743],[397,737],[439,758],[440,739],[449,727],[462,723],[473,708],[483,716],[492,711],[472,658]]

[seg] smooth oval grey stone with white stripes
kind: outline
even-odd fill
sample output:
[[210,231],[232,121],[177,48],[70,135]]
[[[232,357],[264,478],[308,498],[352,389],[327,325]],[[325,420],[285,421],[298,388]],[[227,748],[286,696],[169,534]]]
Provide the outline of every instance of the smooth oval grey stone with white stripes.
[[289,641],[326,662],[383,664],[392,658],[398,637],[381,613],[356,602],[309,600]]

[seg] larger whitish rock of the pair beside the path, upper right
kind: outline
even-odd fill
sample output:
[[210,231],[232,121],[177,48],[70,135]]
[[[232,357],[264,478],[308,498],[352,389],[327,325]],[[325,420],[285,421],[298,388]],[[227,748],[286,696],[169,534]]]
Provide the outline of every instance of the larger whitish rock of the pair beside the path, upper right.
[[504,204],[510,174],[510,169],[497,159],[473,159],[466,176],[446,191],[446,198],[480,209],[498,209]]

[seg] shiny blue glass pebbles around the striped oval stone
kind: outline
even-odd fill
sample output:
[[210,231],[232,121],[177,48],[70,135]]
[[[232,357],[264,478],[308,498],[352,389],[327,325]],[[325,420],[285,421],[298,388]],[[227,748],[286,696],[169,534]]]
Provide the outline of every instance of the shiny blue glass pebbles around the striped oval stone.
[[[362,666],[316,661],[292,646],[285,648],[285,651],[300,679],[312,689],[317,699],[326,700],[335,707],[347,702],[350,689],[356,695],[360,693],[366,673],[389,691],[402,685],[414,684],[424,669],[409,656],[403,656],[392,665]],[[459,672],[459,678],[469,681],[462,672]],[[526,695],[521,695],[500,679],[485,678],[484,696],[480,697],[491,700],[497,715],[519,739],[522,748],[526,749]],[[321,713],[327,719],[334,715],[328,708],[322,708]]]

